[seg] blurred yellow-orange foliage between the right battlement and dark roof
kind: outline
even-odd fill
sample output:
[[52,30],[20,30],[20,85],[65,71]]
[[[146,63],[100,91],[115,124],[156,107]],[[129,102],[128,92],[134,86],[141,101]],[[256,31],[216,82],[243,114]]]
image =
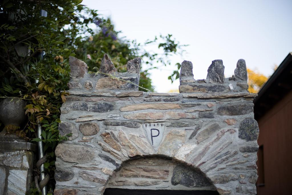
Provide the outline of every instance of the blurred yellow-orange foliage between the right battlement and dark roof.
[[258,93],[263,84],[265,84],[265,82],[268,80],[268,77],[265,75],[249,68],[247,68],[247,75],[247,84],[249,85],[248,91],[251,93]]

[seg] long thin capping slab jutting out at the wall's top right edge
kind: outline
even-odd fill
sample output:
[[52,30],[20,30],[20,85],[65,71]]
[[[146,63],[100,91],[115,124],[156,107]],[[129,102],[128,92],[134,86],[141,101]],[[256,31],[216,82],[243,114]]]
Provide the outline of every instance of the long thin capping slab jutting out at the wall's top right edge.
[[192,94],[187,94],[183,93],[183,97],[196,97],[198,99],[211,99],[211,98],[218,98],[218,99],[223,99],[223,98],[232,98],[232,97],[249,97],[249,98],[255,98],[258,96],[258,94],[253,94],[253,93],[237,93],[237,94],[197,94],[197,93],[192,93]]

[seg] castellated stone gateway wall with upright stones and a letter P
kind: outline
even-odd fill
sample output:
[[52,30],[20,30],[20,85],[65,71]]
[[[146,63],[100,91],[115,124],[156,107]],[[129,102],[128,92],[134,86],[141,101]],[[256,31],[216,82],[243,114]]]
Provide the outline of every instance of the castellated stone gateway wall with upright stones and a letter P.
[[[245,61],[224,77],[212,61],[194,80],[183,61],[180,93],[138,91],[140,58],[118,73],[107,55],[100,72],[69,58],[71,80],[61,108],[55,194],[103,194],[106,188],[215,190],[256,194],[258,124]],[[107,74],[107,75],[106,75]]]

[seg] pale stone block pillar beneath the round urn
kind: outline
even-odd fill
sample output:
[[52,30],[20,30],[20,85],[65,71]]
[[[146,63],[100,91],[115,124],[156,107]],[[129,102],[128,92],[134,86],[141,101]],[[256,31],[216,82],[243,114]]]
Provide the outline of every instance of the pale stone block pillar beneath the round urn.
[[0,194],[25,194],[32,182],[36,146],[22,139],[0,136]]

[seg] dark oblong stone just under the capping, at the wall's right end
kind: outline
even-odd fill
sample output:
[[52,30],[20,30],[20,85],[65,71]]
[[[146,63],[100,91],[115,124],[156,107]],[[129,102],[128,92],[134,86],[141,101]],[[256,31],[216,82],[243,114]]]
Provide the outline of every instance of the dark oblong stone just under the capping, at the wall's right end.
[[219,115],[244,115],[253,112],[253,103],[226,104],[218,108]]

